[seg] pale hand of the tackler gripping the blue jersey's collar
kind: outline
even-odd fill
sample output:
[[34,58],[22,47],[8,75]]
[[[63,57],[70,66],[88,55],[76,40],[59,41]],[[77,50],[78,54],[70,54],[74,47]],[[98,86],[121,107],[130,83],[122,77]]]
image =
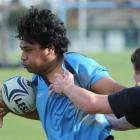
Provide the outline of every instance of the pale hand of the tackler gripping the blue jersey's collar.
[[74,85],[74,77],[69,71],[66,71],[63,75],[56,73],[55,81],[51,85],[51,91],[65,94],[66,88],[71,85]]

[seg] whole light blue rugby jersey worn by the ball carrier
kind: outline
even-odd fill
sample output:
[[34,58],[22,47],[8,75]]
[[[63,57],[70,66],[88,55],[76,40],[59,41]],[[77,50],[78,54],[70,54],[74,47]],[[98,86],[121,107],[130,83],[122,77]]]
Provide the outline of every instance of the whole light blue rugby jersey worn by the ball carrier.
[[[86,89],[109,76],[105,67],[78,53],[65,53],[64,66],[74,74],[75,83]],[[48,140],[104,140],[110,135],[104,115],[87,114],[59,93],[49,96],[49,82],[40,75],[34,75],[33,82],[37,110]]]

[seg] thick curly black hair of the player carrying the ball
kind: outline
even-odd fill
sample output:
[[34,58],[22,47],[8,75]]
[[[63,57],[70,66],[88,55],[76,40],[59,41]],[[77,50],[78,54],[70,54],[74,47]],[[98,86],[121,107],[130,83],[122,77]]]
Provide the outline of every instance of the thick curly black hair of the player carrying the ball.
[[64,23],[50,10],[34,7],[20,18],[16,37],[30,43],[39,43],[41,48],[53,44],[55,53],[59,55],[68,51],[70,44]]

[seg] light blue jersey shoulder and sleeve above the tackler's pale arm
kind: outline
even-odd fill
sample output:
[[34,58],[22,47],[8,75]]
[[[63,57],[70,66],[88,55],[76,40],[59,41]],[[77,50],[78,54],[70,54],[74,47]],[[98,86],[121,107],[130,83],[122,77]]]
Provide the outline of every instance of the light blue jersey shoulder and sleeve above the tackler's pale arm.
[[109,77],[106,67],[101,66],[94,59],[84,55],[67,53],[65,54],[65,61],[72,67],[78,84],[83,88],[90,89],[91,85],[95,84],[98,80]]

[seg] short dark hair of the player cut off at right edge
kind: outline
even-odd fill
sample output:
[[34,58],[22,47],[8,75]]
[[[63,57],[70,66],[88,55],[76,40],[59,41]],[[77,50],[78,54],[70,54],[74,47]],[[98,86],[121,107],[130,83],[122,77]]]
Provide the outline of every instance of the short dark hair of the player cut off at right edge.
[[131,62],[135,70],[140,71],[140,48],[137,48],[131,55]]

